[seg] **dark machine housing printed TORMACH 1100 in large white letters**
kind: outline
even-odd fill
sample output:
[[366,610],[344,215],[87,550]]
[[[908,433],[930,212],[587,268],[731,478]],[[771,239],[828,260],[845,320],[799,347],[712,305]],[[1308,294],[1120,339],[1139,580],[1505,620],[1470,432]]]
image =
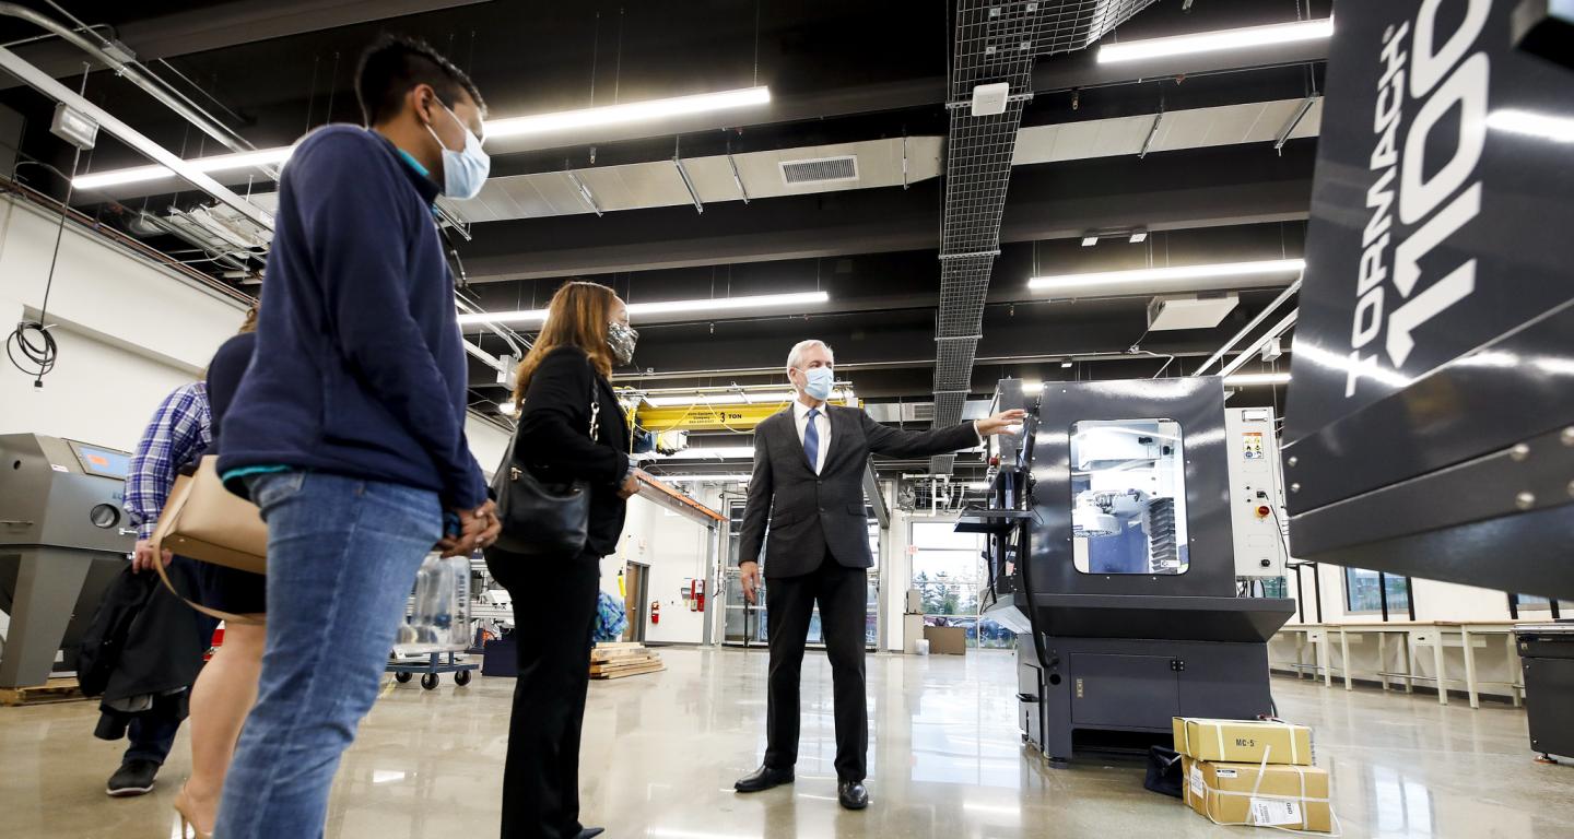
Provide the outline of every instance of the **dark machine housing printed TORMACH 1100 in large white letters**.
[[1283,438],[1291,548],[1574,598],[1568,5],[1336,16]]

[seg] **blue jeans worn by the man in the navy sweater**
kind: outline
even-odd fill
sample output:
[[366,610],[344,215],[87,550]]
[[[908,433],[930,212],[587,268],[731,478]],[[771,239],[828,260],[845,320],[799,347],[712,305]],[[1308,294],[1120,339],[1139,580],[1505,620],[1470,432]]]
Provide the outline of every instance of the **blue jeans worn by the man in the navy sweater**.
[[247,482],[268,521],[268,642],[214,834],[309,839],[323,836],[442,508],[436,493],[320,472]]

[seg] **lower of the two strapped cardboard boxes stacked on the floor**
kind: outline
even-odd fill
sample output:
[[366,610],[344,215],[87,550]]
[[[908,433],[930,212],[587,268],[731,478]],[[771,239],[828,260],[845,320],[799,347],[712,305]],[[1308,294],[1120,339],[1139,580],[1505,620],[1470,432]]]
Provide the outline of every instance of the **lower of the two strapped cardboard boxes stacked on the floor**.
[[[1184,757],[1187,806],[1220,825],[1328,833],[1328,773],[1317,767],[1215,763]],[[1258,776],[1262,776],[1261,782]]]

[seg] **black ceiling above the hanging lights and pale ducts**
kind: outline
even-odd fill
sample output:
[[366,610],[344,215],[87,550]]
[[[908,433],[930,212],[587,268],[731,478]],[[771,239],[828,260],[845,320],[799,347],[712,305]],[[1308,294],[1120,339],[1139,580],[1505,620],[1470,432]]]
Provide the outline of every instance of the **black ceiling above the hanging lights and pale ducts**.
[[[61,17],[42,0],[24,5]],[[1310,5],[1311,14],[1328,14],[1327,0]],[[230,126],[260,148],[290,143],[326,120],[359,121],[351,71],[359,49],[379,31],[417,35],[447,50],[474,76],[494,116],[738,88],[756,79],[771,88],[776,118],[765,123],[718,121],[677,135],[622,135],[502,154],[494,175],[587,167],[592,145],[595,165],[612,165],[671,157],[675,142],[686,156],[716,154],[943,135],[948,123],[943,96],[951,3],[943,0],[345,0],[326,9],[309,0],[60,0],[58,6],[85,24],[107,25],[102,31],[123,38],[153,71],[216,115],[233,115],[225,116]],[[433,11],[400,14],[414,8]],[[1288,22],[1306,13],[1305,0],[1162,0],[1108,38]],[[0,19],[0,43],[36,33]],[[58,41],[16,50],[61,77],[80,72],[80,55]],[[1302,98],[1321,85],[1321,63],[1302,60],[1308,57],[1314,58],[1289,49],[1259,68],[1146,79],[1111,77],[1091,50],[1040,57],[1039,94],[1023,126]],[[176,71],[186,80],[176,79]],[[68,167],[68,148],[47,132],[54,104],[8,77],[0,79],[0,105],[28,121],[24,154]],[[88,79],[87,96],[187,157],[217,151],[109,72]],[[1147,298],[1047,302],[1026,293],[1026,279],[1034,266],[1070,272],[1168,260],[1295,257],[1313,157],[1314,140],[1294,140],[1281,154],[1256,143],[1017,167],[974,371],[977,395],[1001,375],[1053,381],[1195,368],[1277,290],[1245,290],[1236,312],[1215,329],[1144,337]],[[105,139],[87,165],[107,170],[142,162]],[[17,178],[54,195],[65,192],[63,181],[42,167],[24,167]],[[781,381],[774,370],[787,348],[814,335],[836,346],[837,360],[866,398],[927,400],[941,190],[943,183],[930,179],[910,189],[710,205],[704,214],[678,206],[486,222],[474,225],[474,241],[460,253],[472,293],[488,309],[540,305],[568,277],[608,282],[633,301],[820,288],[831,293],[833,304],[812,313],[644,326],[636,359],[639,370],[650,373],[644,381]],[[201,200],[184,192],[126,203]],[[91,198],[74,203],[87,213],[107,213]],[[1083,249],[1075,241],[1091,228],[1127,227],[1154,235],[1141,246],[1103,241]],[[482,342],[501,351],[497,338]],[[1129,354],[1138,343],[1141,351]],[[1169,356],[1176,357],[1166,367]],[[1061,368],[1061,357],[1083,360]],[[1280,368],[1288,368],[1286,362],[1281,359]],[[478,362],[472,379],[478,401],[501,397],[491,371]],[[1254,387],[1236,398],[1267,405],[1281,395]]]

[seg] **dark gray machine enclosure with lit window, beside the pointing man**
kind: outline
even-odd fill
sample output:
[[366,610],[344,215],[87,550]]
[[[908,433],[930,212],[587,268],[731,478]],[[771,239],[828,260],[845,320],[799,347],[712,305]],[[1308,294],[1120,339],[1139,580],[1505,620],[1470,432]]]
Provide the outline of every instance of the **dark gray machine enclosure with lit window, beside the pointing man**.
[[[1182,430],[1185,573],[1077,570],[1070,430],[1130,419]],[[1225,445],[1218,378],[1050,383],[990,508],[959,524],[988,534],[984,609],[1020,633],[1022,730],[1045,757],[1168,743],[1173,716],[1272,713],[1267,639],[1294,601],[1236,597]]]

